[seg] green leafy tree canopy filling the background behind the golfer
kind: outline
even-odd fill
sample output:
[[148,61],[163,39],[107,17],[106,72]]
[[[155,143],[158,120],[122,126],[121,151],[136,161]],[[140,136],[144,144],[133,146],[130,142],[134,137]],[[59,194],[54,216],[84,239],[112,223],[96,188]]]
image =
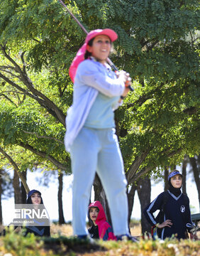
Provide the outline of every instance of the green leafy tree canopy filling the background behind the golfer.
[[[135,88],[116,111],[126,170],[144,152],[138,172],[199,152],[199,1],[65,3],[88,31],[118,33],[112,60]],[[21,166],[70,169],[60,142],[72,104],[68,70],[84,37],[59,1],[0,1],[1,145],[21,156],[20,145],[34,149]]]

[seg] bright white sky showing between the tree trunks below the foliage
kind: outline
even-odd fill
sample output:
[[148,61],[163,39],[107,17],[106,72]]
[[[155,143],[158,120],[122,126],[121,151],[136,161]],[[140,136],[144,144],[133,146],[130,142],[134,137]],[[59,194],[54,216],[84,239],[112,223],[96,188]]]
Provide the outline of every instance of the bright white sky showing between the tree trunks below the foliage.
[[[180,171],[180,170],[179,170]],[[181,172],[181,171],[180,171]],[[58,220],[58,204],[57,204],[57,176],[52,176],[50,184],[48,187],[40,186],[35,177],[43,178],[44,175],[37,172],[28,171],[27,174],[27,183],[30,188],[37,189],[42,193],[43,202],[45,208],[48,210],[48,214],[50,215],[50,220]],[[72,220],[72,175],[64,176],[63,178],[63,191],[62,191],[62,203],[63,203],[63,211],[65,221]],[[192,181],[193,174],[189,174],[187,176],[187,194],[189,196],[191,213],[199,213],[199,199],[198,193],[196,189],[196,184]],[[152,191],[151,191],[151,201],[154,200],[162,191],[164,191],[164,183],[161,181],[159,183],[152,182]],[[91,201],[94,201],[94,192],[91,193]],[[11,220],[13,219],[12,213],[14,212],[14,199],[10,198],[9,200],[2,201],[2,211],[3,211],[3,224],[9,225]],[[138,199],[138,193],[135,193],[133,212],[131,218],[140,220],[140,202]]]

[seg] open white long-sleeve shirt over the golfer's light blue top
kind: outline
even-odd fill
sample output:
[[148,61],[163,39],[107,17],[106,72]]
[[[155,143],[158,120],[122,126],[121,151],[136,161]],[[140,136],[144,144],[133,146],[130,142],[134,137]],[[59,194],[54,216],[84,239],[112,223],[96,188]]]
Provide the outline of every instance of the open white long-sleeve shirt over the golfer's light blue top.
[[[84,60],[79,64],[74,79],[73,104],[67,111],[65,133],[65,148],[70,151],[70,146],[84,126],[91,105],[99,92],[109,97],[123,94],[123,80],[116,77],[111,67],[103,65],[96,60]],[[115,106],[114,110],[118,107]]]

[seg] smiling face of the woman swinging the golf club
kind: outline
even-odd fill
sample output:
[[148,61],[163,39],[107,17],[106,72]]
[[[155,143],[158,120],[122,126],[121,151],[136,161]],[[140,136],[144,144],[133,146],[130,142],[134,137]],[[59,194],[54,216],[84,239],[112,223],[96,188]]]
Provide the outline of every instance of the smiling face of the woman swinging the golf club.
[[87,50],[100,63],[106,63],[111,51],[111,39],[105,35],[96,36],[92,46],[87,46]]

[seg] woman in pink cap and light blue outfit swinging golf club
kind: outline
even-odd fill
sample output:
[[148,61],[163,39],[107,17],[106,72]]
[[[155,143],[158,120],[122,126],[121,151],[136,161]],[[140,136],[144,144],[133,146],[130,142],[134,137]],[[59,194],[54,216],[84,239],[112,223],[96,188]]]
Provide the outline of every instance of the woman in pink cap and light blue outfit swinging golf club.
[[106,191],[114,234],[118,240],[123,235],[130,238],[127,182],[113,114],[122,104],[121,96],[128,94],[130,80],[124,71],[116,75],[106,61],[117,38],[109,28],[90,31],[70,66],[74,95],[67,111],[65,147],[72,159],[72,226],[79,238],[88,234],[87,207],[95,172]]

